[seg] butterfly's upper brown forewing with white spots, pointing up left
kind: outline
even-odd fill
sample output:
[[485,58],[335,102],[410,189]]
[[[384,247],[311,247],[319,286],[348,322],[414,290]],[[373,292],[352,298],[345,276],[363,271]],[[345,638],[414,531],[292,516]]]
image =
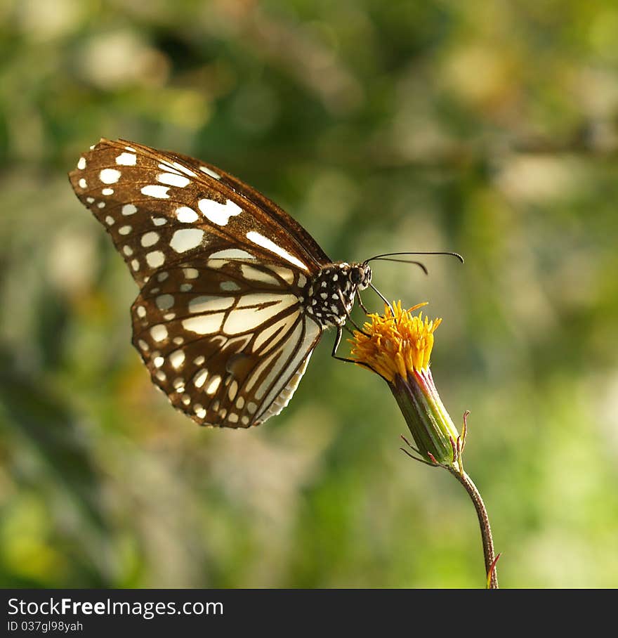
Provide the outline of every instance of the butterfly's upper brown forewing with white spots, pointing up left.
[[70,181],[140,286],[160,268],[228,250],[305,275],[329,261],[268,198],[197,159],[103,139],[80,157]]

